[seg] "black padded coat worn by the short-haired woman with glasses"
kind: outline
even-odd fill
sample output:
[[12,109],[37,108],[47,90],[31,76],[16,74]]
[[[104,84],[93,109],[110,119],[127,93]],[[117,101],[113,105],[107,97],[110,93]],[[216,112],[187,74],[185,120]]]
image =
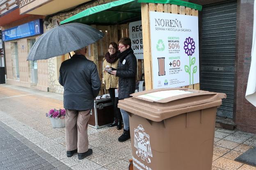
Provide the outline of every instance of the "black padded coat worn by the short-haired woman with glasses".
[[133,49],[129,48],[120,54],[117,77],[118,80],[118,98],[125,99],[135,92],[137,74],[137,59],[133,54]]

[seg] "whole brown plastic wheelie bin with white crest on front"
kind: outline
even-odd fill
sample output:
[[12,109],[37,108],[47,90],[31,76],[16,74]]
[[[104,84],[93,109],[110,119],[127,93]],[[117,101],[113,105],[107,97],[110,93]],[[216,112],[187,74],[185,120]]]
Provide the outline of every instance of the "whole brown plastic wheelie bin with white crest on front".
[[134,170],[212,169],[216,111],[226,94],[162,88],[132,96],[118,107],[129,113]]

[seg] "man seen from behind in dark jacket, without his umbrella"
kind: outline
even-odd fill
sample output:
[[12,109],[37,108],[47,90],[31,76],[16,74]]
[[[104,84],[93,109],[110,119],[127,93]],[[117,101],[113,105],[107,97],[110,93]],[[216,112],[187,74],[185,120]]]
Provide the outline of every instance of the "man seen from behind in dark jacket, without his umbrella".
[[64,86],[67,156],[78,152],[78,159],[92,154],[87,127],[94,98],[101,89],[97,66],[85,54],[86,47],[76,50],[59,68],[59,84]]

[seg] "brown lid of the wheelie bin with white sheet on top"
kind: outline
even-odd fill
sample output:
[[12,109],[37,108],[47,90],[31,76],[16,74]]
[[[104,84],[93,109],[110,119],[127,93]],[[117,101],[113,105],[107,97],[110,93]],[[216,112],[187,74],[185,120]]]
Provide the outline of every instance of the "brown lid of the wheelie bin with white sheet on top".
[[131,96],[119,100],[118,107],[156,122],[182,113],[218,107],[222,104],[222,98],[226,98],[224,93],[188,88],[160,88]]

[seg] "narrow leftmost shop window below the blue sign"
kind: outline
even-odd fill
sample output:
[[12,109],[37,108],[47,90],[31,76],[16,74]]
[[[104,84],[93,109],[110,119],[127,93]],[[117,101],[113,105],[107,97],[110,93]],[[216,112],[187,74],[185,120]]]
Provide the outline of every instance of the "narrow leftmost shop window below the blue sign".
[[13,78],[19,80],[20,79],[20,70],[19,70],[19,62],[18,62],[18,43],[11,43],[11,56],[12,56],[12,73]]

